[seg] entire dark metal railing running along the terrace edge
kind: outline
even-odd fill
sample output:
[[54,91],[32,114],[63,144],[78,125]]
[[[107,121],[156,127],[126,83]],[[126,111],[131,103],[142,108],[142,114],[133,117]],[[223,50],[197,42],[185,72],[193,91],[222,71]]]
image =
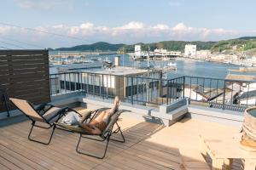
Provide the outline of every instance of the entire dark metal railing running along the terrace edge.
[[81,91],[102,99],[120,98],[137,105],[170,105],[187,98],[190,105],[244,111],[256,105],[256,82],[207,77],[173,79],[119,76],[92,72],[50,75],[50,94]]

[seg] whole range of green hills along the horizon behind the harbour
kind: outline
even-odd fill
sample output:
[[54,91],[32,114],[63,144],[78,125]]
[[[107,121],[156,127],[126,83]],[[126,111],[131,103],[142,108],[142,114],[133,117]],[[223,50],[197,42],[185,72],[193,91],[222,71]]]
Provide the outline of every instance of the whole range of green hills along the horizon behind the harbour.
[[[186,42],[186,41],[165,41],[152,43],[136,43],[141,44],[143,50],[154,50],[155,48],[165,48],[172,51],[182,51],[185,45],[191,43],[197,46],[197,50],[211,50],[212,53],[240,53],[241,51],[250,52],[249,54],[256,54],[256,37],[240,37],[236,39],[224,40],[219,42]],[[118,51],[125,53],[134,52],[136,44],[111,44],[108,42],[96,42],[93,44],[78,45],[71,48],[56,48],[60,51]]]

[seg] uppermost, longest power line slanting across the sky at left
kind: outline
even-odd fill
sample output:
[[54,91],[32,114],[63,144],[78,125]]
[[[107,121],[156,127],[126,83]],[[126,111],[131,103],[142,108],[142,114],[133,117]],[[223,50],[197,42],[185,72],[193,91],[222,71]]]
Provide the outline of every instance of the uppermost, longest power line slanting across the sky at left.
[[72,38],[72,39],[76,39],[76,40],[80,40],[80,41],[91,42],[89,40],[85,40],[85,39],[79,38],[79,37],[67,36],[67,35],[57,34],[55,32],[42,31],[42,30],[37,30],[37,29],[34,29],[34,28],[28,28],[28,27],[23,27],[23,26],[15,26],[15,25],[8,24],[8,23],[3,23],[3,22],[0,22],[0,25],[3,25],[3,26],[13,26],[13,27],[20,28],[20,29],[25,29],[25,30],[28,30],[28,31],[42,32],[42,33],[53,35],[53,36],[57,36],[57,37],[67,37],[67,38]]

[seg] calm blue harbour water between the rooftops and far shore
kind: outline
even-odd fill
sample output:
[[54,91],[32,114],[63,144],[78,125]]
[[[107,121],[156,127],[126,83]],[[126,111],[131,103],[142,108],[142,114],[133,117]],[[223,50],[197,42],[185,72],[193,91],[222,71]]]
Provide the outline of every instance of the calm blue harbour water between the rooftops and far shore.
[[[112,62],[114,58],[120,57],[120,65],[124,66],[136,66],[146,67],[148,61],[145,60],[134,60],[129,57],[128,54],[87,54],[86,59],[108,59]],[[150,60],[149,65],[161,67],[168,63],[176,64],[177,71],[170,71],[167,74],[167,78],[174,77],[212,77],[212,78],[225,78],[228,74],[239,74],[239,75],[253,75],[256,76],[256,72],[241,73],[229,70],[238,70],[240,65],[224,64],[217,62],[209,62],[204,60],[195,59],[172,59],[172,60]],[[50,71],[55,70],[51,68]]]

